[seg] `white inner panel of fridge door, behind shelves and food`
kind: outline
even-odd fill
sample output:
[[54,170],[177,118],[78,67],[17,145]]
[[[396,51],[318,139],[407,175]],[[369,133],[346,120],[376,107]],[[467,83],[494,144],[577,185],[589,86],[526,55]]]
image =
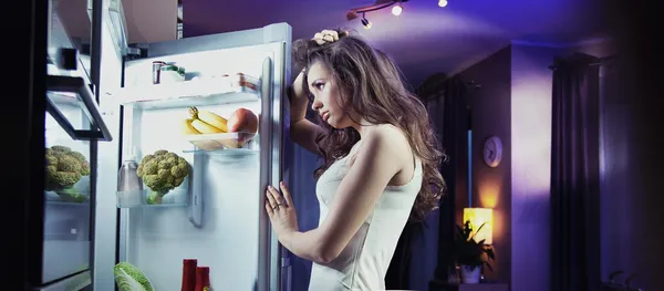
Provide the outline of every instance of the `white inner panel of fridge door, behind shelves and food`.
[[[270,46],[259,45],[133,61],[126,66],[125,85],[151,84],[154,60],[184,66],[187,80],[238,72],[260,77],[262,62],[270,54]],[[238,107],[258,115],[261,104],[256,101],[199,108],[228,118]],[[128,218],[125,221],[126,259],[149,277],[156,290],[179,288],[183,259],[198,259],[198,266],[209,267],[216,289],[253,290],[261,243],[259,215],[264,210],[263,191],[259,186],[260,155],[258,152],[247,156],[184,153],[194,148],[180,134],[180,123],[187,114],[186,107],[125,111],[123,156],[135,148],[138,159],[157,149],[186,158],[193,169],[188,179],[189,195],[200,190],[204,206],[200,227],[189,221],[187,207],[124,209],[129,212],[124,216]]]

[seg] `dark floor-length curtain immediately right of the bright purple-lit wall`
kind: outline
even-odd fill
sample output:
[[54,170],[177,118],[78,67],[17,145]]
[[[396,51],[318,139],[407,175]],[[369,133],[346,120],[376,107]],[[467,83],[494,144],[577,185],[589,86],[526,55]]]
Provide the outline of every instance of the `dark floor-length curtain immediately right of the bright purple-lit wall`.
[[552,66],[552,291],[599,288],[599,62],[574,54]]

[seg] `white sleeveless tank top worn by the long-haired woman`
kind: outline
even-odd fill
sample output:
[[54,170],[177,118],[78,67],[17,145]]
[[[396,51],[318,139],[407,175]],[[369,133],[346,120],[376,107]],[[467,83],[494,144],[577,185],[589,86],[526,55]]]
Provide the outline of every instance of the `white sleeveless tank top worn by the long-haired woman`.
[[[319,178],[315,187],[320,204],[319,226],[325,220],[329,206],[361,142]],[[421,187],[422,164],[415,158],[411,181],[385,188],[369,218],[339,257],[325,266],[312,263],[309,290],[384,290],[385,273]]]

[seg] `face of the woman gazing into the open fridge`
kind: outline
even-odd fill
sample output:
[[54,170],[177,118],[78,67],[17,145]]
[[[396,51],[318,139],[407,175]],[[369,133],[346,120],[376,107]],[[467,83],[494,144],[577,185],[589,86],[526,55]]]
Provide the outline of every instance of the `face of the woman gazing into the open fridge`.
[[[347,111],[343,108],[342,90],[335,83],[332,72],[321,62],[315,62],[307,72],[309,91],[313,94],[311,108],[334,128],[353,126]],[[347,96],[346,92],[343,92]]]

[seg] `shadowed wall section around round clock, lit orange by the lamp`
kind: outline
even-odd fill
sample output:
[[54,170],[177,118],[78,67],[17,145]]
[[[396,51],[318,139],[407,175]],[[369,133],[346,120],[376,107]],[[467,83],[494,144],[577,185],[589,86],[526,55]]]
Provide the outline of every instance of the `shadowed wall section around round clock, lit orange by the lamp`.
[[[465,82],[480,85],[470,92],[471,117],[471,201],[458,196],[457,224],[461,224],[464,207],[494,208],[494,271],[485,270],[489,280],[510,281],[511,267],[511,49],[499,50],[460,73]],[[483,162],[483,142],[489,136],[502,142],[502,162],[490,168]]]

